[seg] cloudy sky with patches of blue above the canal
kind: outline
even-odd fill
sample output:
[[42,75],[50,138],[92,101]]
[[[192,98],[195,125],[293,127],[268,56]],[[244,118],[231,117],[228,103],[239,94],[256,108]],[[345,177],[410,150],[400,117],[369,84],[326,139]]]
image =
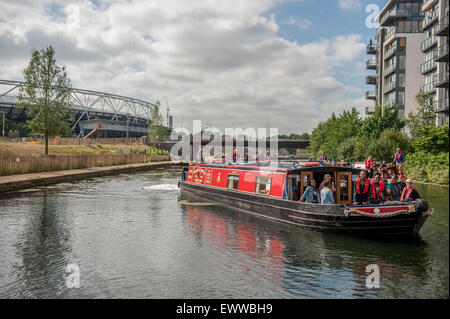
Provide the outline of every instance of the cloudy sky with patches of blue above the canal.
[[[366,101],[363,0],[0,0],[0,79],[53,45],[73,86],[166,99],[174,126],[309,132]],[[372,88],[373,89],[373,88]],[[208,124],[209,126],[209,124]]]

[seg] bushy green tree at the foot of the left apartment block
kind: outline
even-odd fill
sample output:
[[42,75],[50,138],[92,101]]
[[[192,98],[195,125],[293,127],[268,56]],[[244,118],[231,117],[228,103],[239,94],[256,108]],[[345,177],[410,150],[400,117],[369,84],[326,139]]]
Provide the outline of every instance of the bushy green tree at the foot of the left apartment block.
[[359,130],[359,136],[368,138],[378,138],[387,129],[400,132],[405,126],[405,122],[398,118],[398,106],[393,110],[382,109],[381,105],[375,107],[371,116],[364,119]]

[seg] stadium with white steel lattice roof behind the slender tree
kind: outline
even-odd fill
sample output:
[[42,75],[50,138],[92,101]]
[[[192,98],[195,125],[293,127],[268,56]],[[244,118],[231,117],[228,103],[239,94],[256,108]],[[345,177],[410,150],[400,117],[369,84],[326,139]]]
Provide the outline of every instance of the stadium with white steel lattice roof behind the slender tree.
[[[21,81],[0,79],[0,113],[4,112],[8,119],[26,119],[25,109],[17,107],[17,96],[23,86]],[[155,106],[135,98],[77,88],[71,89],[69,103],[75,114],[74,133],[88,132],[102,124],[106,133],[103,137],[147,135]]]

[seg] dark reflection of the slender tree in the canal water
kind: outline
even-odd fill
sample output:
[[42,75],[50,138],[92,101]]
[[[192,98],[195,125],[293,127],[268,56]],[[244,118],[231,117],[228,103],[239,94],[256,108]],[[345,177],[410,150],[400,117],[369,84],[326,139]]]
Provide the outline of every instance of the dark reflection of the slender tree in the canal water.
[[71,221],[65,203],[49,197],[47,191],[36,206],[16,244],[21,263],[15,265],[15,273],[22,286],[17,297],[63,296],[67,292],[64,274],[70,262]]

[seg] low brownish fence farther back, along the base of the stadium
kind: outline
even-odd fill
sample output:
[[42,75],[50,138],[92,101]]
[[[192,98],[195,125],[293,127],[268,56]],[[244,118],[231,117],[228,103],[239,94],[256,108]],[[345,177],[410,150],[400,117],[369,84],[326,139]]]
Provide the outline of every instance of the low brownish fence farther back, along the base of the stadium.
[[[72,138],[72,137],[61,137],[56,139],[56,145],[90,145],[90,144],[145,144],[147,137],[129,137],[129,138]],[[43,138],[38,137],[0,137],[0,141],[5,142],[16,142],[16,143],[28,143],[28,142],[38,142],[39,144],[44,144]],[[49,145],[55,145],[55,140],[50,138],[48,140]]]

